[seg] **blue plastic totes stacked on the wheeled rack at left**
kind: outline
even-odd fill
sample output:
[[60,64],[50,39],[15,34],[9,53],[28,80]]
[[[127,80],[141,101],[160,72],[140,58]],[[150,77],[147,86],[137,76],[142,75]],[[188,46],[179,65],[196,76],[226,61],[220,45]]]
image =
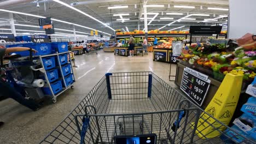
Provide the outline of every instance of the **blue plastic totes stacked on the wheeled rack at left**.
[[[30,36],[18,36],[16,41],[31,41]],[[33,53],[33,56],[46,56],[56,53],[61,53],[56,56],[46,56],[42,57],[42,63],[44,65],[45,73],[48,77],[50,87],[53,90],[53,93],[56,95],[60,93],[66,86],[69,87],[74,82],[74,76],[72,73],[72,65],[69,63],[68,53],[68,43],[67,42],[55,42],[55,43],[23,43],[23,44],[14,44],[7,45],[6,47],[31,47],[32,49],[37,50],[37,53]],[[30,51],[15,52],[22,57],[30,56]],[[59,63],[59,60],[60,63]],[[62,71],[62,74],[61,74]],[[63,78],[62,79],[62,75]],[[41,79],[46,80],[44,76],[40,76]],[[64,83],[65,82],[65,83]],[[46,95],[52,95],[49,86],[42,88],[43,93]]]

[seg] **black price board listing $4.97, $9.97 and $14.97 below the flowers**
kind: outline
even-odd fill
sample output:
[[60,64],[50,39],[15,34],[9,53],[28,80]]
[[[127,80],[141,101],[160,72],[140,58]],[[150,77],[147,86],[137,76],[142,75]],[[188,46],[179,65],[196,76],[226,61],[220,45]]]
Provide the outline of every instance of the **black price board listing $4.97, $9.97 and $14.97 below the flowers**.
[[197,105],[202,105],[210,87],[208,76],[188,67],[184,68],[181,90]]

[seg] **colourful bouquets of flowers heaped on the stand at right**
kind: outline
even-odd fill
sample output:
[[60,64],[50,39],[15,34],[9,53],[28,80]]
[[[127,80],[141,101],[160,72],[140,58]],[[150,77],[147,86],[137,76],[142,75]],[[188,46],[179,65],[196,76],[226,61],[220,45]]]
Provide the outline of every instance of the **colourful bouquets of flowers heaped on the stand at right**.
[[188,62],[195,69],[212,71],[214,79],[220,81],[228,73],[243,74],[244,80],[252,81],[256,76],[256,46],[248,47],[248,40],[239,45],[234,42],[229,40],[227,44],[191,44],[184,47],[179,59]]

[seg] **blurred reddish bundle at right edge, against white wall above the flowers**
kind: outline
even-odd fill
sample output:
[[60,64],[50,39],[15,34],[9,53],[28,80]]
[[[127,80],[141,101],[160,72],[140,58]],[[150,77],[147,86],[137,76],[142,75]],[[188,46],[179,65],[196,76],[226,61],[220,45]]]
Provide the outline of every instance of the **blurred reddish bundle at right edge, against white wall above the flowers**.
[[240,39],[237,39],[237,44],[247,50],[256,49],[256,35],[247,33]]

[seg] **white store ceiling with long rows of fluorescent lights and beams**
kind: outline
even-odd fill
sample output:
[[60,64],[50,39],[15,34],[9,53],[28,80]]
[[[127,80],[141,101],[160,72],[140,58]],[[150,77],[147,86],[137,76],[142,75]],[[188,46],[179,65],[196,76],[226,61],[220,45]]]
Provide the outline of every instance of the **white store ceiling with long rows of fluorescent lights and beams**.
[[[1,2],[1,1],[0,1]],[[94,28],[97,30],[100,30],[102,32],[106,32],[109,34],[114,34],[114,31],[106,26],[104,26],[102,23],[97,22],[93,19],[91,19],[88,16],[85,16],[81,13],[78,13],[78,11],[75,11],[71,8],[66,7],[65,5],[62,5],[60,3],[50,1],[50,0],[38,0],[40,7],[36,7],[37,2],[27,2],[22,4],[16,4],[8,6],[7,10],[13,10],[13,11],[19,11],[22,13],[28,13],[28,14],[34,14],[34,15],[40,15],[45,17],[52,17],[54,19],[67,21],[76,23],[78,25]],[[129,31],[133,31],[134,29],[144,29],[144,20],[141,20],[141,17],[144,17],[142,15],[144,8],[143,4],[147,3],[147,5],[150,4],[159,4],[164,5],[164,7],[157,8],[147,8],[147,13],[158,13],[158,15],[155,17],[155,19],[148,25],[148,30],[152,29],[159,29],[163,26],[166,26],[168,23],[171,23],[173,21],[176,21],[172,23],[170,26],[166,26],[161,29],[161,31],[167,31],[173,28],[181,27],[179,30],[188,29],[191,25],[216,25],[216,23],[227,23],[227,17],[217,19],[218,21],[204,21],[204,19],[214,19],[216,17],[219,17],[219,15],[229,15],[228,10],[210,10],[207,9],[208,7],[214,7],[214,8],[229,8],[228,0],[161,0],[161,1],[152,1],[152,0],[81,0],[81,1],[68,1],[63,0],[62,2],[65,2],[67,4],[76,3],[76,2],[84,2],[84,4],[77,4],[74,5],[74,8],[77,8],[81,11],[83,11],[86,14],[91,15],[92,17],[95,17],[97,20],[102,21],[103,23],[109,23],[109,26],[113,29],[122,29],[127,27]],[[121,8],[121,9],[108,9],[110,6],[115,5],[128,5],[128,8]],[[191,8],[174,8],[174,5],[187,5],[187,6],[194,6],[194,9]],[[166,15],[166,13],[182,13],[182,15]],[[114,14],[129,14],[127,16],[123,16],[124,19],[130,19],[122,21],[117,21],[117,19],[120,19],[120,16],[113,16]],[[190,19],[196,19],[196,20],[181,20],[180,22],[177,22],[178,19],[181,19],[182,17],[190,14],[209,14],[209,16],[189,16],[187,18]],[[6,21],[5,19],[9,19],[9,14],[6,12],[0,11],[0,28],[8,28],[8,22],[4,23]],[[153,18],[154,15],[148,15],[149,18]],[[160,18],[168,17],[173,18],[173,20],[162,20]],[[20,24],[26,24],[26,25],[38,25],[38,18],[37,17],[31,17],[21,14],[14,14],[14,20],[15,23]],[[151,20],[151,19],[150,19]],[[149,20],[149,21],[150,21]],[[149,22],[148,21],[148,22]],[[2,23],[2,24],[1,24]],[[54,22],[54,26],[56,28],[65,28],[72,30],[73,26],[68,25],[66,23],[62,22]],[[31,28],[31,27],[19,27],[15,26],[19,29],[34,29],[37,30],[38,28]],[[77,27],[75,26],[75,29],[80,32],[89,33],[90,29]],[[104,34],[105,36],[109,36],[107,34]]]

